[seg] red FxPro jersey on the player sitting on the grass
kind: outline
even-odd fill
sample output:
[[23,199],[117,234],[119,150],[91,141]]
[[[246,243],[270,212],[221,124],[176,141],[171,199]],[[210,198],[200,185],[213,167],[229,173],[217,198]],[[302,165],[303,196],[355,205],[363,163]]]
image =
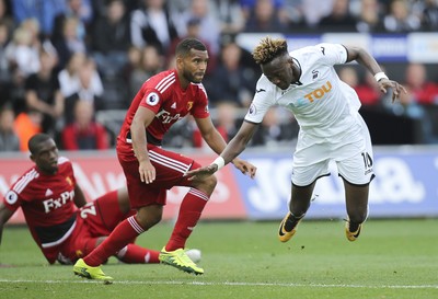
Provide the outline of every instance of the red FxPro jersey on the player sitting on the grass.
[[33,166],[11,187],[4,205],[22,208],[28,229],[43,253],[48,256],[76,226],[73,168],[67,158],[58,159],[58,172],[45,174]]

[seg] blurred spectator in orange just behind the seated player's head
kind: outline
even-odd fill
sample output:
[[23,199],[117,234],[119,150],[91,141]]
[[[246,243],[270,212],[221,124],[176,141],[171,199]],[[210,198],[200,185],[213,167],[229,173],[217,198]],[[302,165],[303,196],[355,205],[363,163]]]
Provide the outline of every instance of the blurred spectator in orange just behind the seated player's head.
[[21,112],[14,120],[15,133],[20,139],[20,150],[28,151],[27,141],[37,133],[42,133],[43,114],[39,111]]

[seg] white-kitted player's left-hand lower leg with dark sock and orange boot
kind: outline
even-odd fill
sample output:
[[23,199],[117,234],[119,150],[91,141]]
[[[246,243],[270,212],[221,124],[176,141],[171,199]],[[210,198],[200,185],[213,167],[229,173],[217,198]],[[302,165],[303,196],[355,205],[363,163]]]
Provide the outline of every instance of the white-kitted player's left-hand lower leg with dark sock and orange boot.
[[278,239],[287,242],[297,232],[299,222],[310,207],[315,182],[308,186],[297,186],[292,183],[289,200],[289,212],[283,219],[278,229]]

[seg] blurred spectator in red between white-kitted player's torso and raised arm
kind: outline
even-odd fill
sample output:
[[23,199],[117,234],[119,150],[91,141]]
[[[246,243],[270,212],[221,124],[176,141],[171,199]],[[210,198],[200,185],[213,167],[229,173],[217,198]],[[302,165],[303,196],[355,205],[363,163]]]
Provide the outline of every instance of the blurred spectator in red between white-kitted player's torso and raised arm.
[[377,106],[380,103],[381,92],[372,73],[367,71],[364,80],[354,67],[346,66],[338,71],[339,79],[353,88],[364,106]]

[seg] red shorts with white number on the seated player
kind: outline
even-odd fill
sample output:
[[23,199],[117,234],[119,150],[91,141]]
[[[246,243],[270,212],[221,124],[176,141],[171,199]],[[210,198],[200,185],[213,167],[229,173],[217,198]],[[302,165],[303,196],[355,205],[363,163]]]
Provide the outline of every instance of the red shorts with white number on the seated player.
[[89,254],[96,246],[99,238],[110,235],[122,220],[132,215],[122,214],[117,191],[88,203],[77,212],[76,228],[60,251],[73,263]]

